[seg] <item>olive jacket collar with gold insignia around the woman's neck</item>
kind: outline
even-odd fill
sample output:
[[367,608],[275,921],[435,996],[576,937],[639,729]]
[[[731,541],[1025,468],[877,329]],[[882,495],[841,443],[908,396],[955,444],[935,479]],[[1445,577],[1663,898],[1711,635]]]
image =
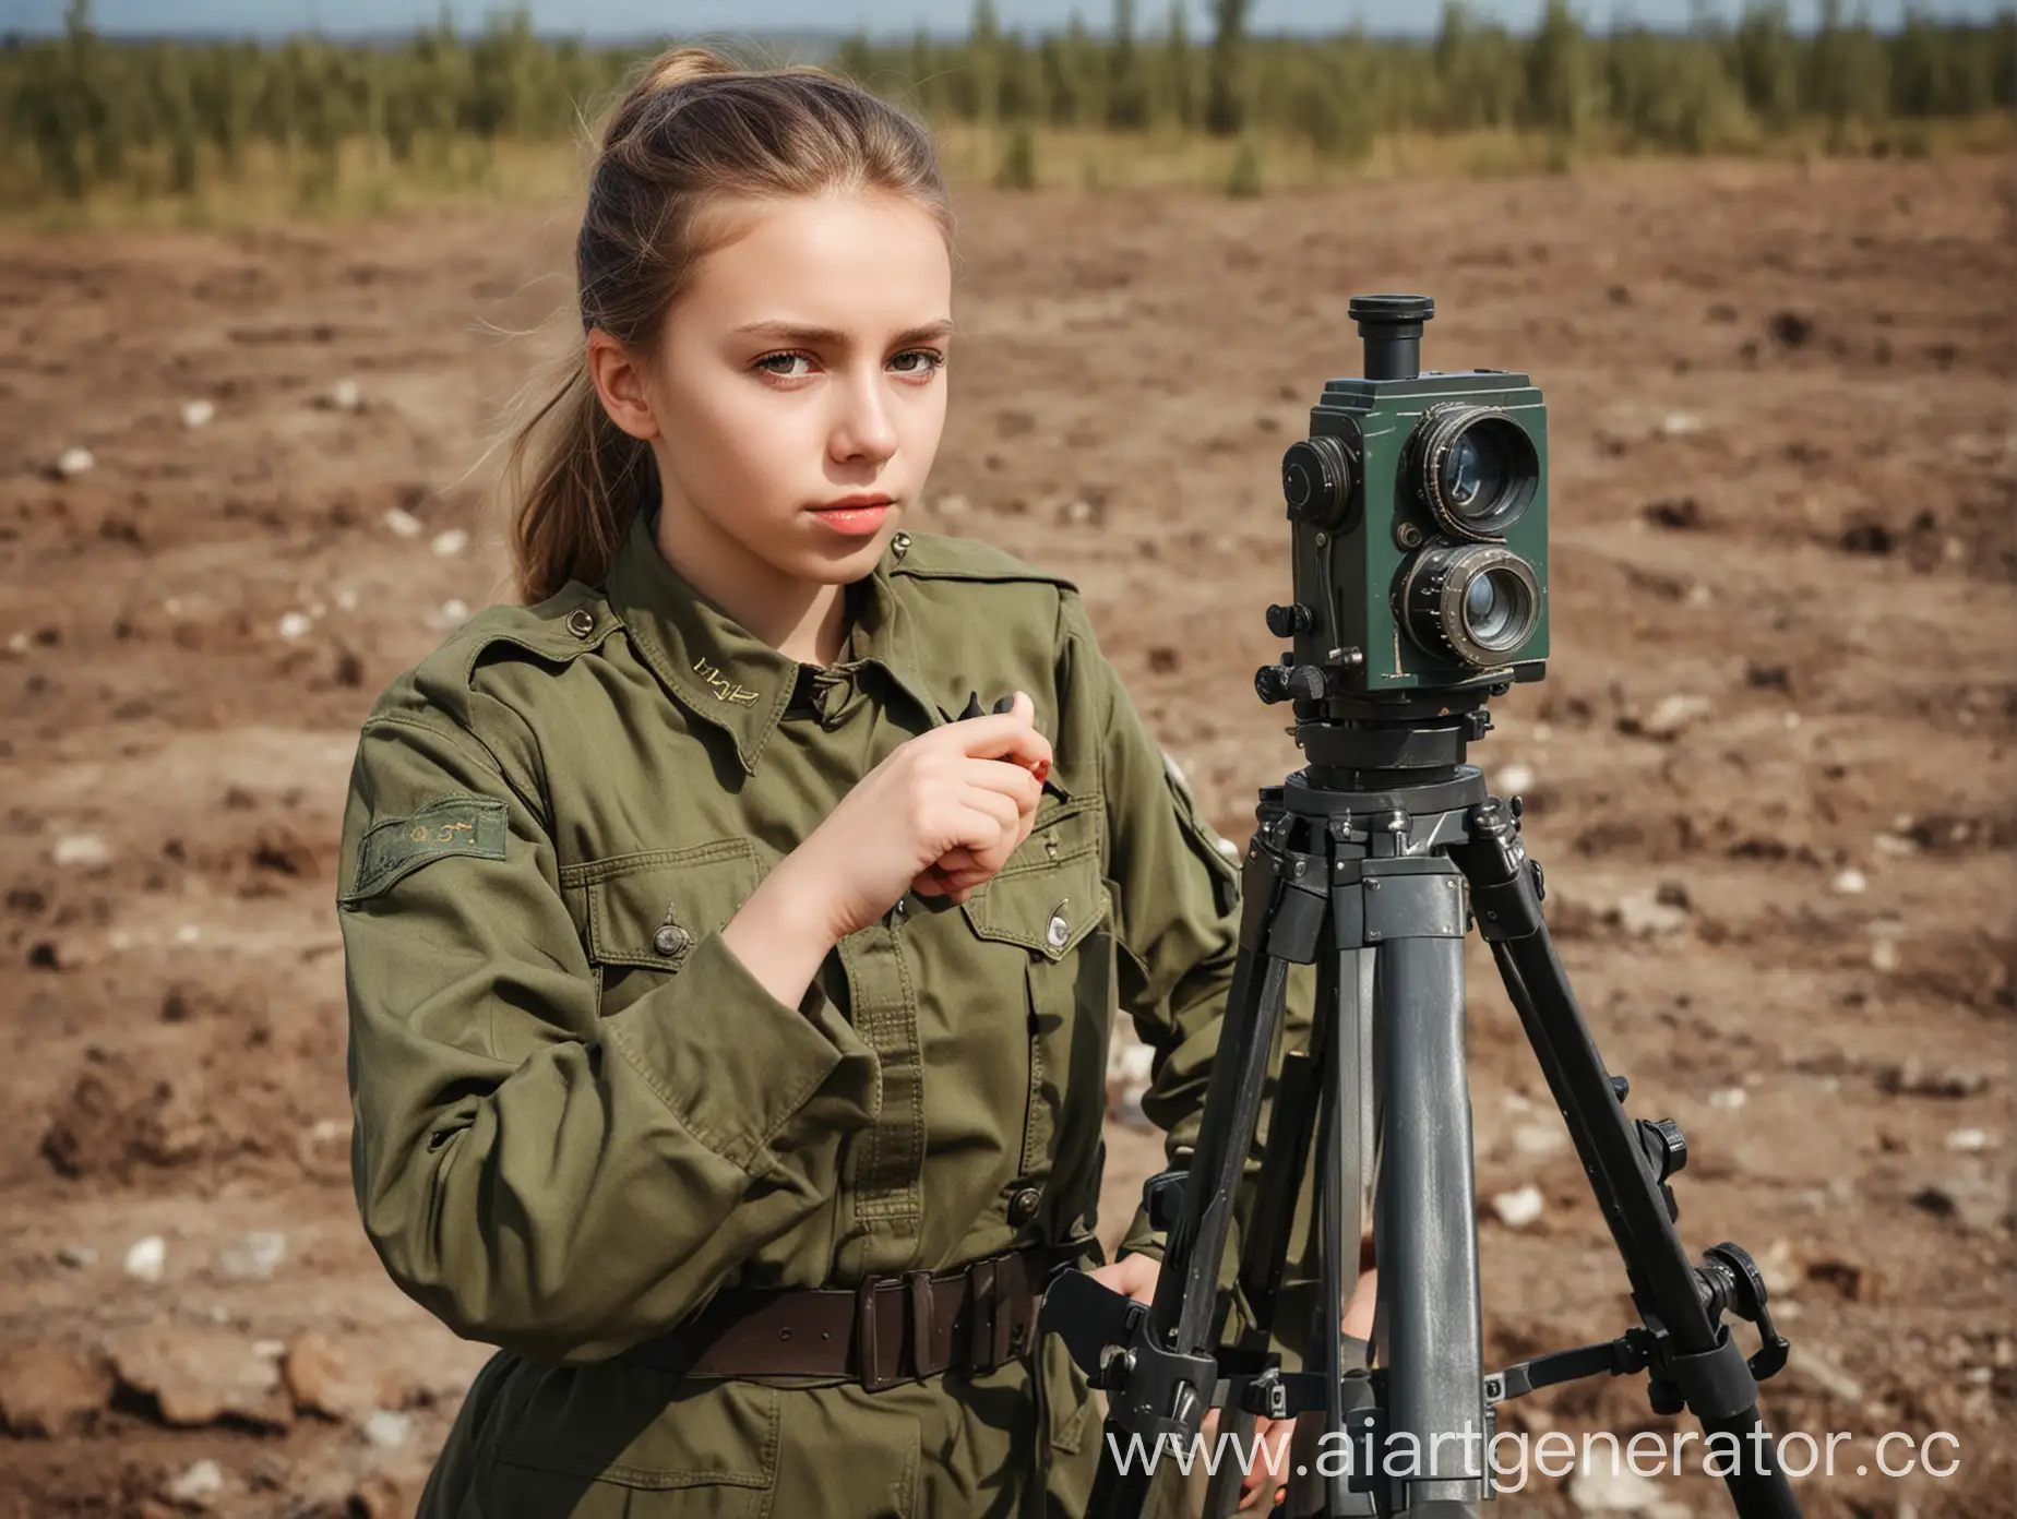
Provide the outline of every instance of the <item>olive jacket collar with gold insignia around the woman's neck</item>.
[[[847,587],[855,656],[831,672],[881,666],[924,710],[926,722],[938,726],[950,716],[930,700],[918,672],[916,625],[889,579],[896,553],[885,547],[875,569]],[[744,775],[754,775],[764,742],[791,704],[799,662],[742,627],[666,561],[658,549],[656,506],[631,520],[605,589],[660,684],[688,712],[720,728],[736,746]]]

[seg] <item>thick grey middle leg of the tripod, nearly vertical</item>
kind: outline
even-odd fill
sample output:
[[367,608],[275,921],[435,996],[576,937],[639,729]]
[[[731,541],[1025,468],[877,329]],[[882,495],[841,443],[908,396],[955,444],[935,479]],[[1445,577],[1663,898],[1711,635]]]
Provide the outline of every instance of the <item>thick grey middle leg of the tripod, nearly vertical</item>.
[[1396,873],[1376,878],[1378,865],[1366,867],[1366,926],[1380,946],[1374,1239],[1388,1305],[1380,1360],[1388,1438],[1412,1436],[1406,1448],[1420,1473],[1398,1483],[1396,1511],[1454,1517],[1489,1495],[1464,918],[1448,861],[1398,859]]

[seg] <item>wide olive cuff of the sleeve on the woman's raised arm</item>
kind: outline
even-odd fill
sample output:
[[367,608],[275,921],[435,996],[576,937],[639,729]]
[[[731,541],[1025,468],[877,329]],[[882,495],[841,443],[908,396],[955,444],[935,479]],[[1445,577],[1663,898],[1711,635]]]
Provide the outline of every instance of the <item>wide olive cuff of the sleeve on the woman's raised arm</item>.
[[821,1107],[837,1128],[873,1118],[875,1055],[819,982],[789,1007],[720,934],[601,1029],[688,1134],[752,1176],[777,1164],[770,1140],[829,1081]]

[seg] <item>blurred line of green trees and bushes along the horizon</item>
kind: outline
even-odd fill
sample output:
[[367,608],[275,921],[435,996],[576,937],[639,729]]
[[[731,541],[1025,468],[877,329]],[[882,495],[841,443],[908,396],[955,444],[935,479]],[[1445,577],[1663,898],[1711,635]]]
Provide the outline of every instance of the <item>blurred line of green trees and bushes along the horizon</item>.
[[[1842,0],[1795,30],[1785,0],[1735,16],[1698,0],[1684,32],[1591,28],[1569,0],[1513,32],[1458,0],[1434,36],[1251,32],[1251,0],[1186,0],[1144,18],[1111,0],[1057,32],[972,8],[958,40],[845,38],[825,63],[930,121],[1002,129],[1008,163],[1029,133],[1069,129],[1210,139],[1287,137],[1349,163],[1390,133],[1541,133],[1577,151],[1922,151],[1928,123],[2017,103],[2017,10],[1952,20],[1908,8],[1878,30]],[[702,38],[706,40],[706,38]],[[248,161],[305,192],[345,163],[452,176],[470,143],[561,143],[621,89],[645,48],[535,34],[526,12],[480,34],[442,22],[397,44],[296,36],[119,42],[71,0],[65,32],[0,42],[0,200],[101,192],[194,196]],[[1011,182],[1017,173],[1006,176]]]

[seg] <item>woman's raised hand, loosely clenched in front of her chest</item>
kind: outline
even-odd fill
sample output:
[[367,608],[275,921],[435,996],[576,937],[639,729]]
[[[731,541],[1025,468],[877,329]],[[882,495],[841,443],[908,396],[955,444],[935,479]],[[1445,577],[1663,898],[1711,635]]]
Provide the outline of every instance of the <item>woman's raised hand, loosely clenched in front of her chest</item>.
[[793,849],[819,863],[835,940],[877,922],[904,892],[964,902],[1029,837],[1051,740],[1023,692],[1008,712],[906,740]]

